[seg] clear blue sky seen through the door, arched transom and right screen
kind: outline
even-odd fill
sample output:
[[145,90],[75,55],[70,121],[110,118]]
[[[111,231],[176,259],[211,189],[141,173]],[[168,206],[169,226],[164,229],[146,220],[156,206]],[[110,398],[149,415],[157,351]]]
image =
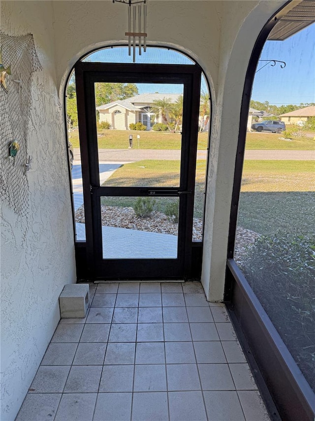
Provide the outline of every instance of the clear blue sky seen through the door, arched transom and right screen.
[[[267,41],[262,50],[261,60],[281,60],[280,64],[264,67],[256,73],[252,99],[268,101],[270,104],[286,105],[315,102],[315,24],[286,39],[285,41]],[[91,61],[111,63],[132,63],[126,47],[106,48],[96,51],[90,56]],[[159,64],[193,64],[189,58],[167,48],[147,48],[147,52],[139,56],[136,50],[137,63]],[[257,69],[265,63],[258,63]],[[205,81],[202,90],[207,90]],[[165,85],[142,83],[139,93],[182,93],[182,85]]]

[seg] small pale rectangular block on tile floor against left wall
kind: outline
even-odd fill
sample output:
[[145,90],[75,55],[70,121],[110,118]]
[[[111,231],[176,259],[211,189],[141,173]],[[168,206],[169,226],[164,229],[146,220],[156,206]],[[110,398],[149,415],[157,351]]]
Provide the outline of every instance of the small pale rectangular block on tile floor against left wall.
[[89,284],[64,285],[59,297],[62,318],[84,318],[89,307]]

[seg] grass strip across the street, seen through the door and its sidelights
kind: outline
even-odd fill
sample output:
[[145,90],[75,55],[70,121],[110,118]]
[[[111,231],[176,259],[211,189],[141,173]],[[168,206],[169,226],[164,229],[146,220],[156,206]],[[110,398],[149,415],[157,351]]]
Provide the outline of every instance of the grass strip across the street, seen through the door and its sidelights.
[[[140,135],[140,149],[180,149],[182,136],[180,133],[165,133],[155,131],[136,130],[99,130],[101,135],[97,139],[100,149],[127,149],[129,146],[129,136],[133,136],[133,148],[138,149],[137,135]],[[78,130],[71,132],[69,139],[74,148],[79,148]],[[198,135],[198,148],[207,149],[208,133]]]

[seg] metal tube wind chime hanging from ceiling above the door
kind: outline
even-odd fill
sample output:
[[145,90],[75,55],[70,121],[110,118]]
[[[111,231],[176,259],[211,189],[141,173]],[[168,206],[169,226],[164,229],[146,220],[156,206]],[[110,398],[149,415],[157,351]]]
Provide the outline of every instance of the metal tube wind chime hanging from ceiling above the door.
[[[143,52],[147,51],[147,2],[148,0],[134,1],[132,0],[113,0],[113,3],[125,3],[128,5],[128,32],[125,35],[128,37],[128,55],[131,56],[132,47],[132,61],[136,62],[136,38],[138,38],[139,55],[141,56],[141,42],[143,38]],[[132,30],[131,30],[132,20]],[[138,30],[138,32],[137,32]],[[143,32],[141,32],[143,31]]]

